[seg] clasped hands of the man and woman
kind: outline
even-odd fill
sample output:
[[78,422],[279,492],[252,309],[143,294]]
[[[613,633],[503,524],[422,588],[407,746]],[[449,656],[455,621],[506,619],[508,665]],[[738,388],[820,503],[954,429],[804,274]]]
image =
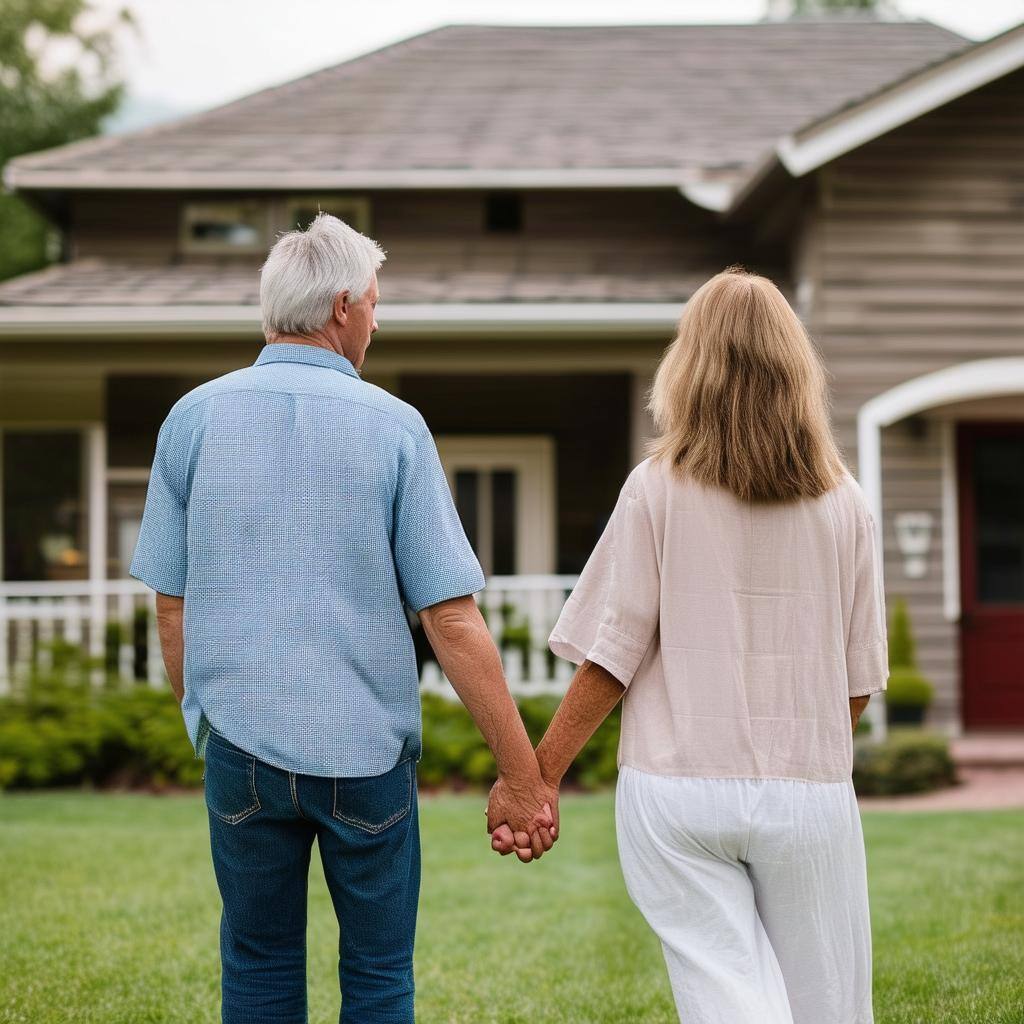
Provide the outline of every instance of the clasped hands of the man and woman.
[[524,777],[499,776],[487,798],[490,848],[523,863],[539,860],[558,839],[558,786],[540,770]]

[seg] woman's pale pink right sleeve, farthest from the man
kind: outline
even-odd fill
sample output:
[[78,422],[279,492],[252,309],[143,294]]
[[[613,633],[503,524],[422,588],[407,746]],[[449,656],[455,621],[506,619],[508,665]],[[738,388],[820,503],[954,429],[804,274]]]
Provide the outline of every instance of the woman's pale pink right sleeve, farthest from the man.
[[857,512],[851,608],[846,674],[850,696],[862,697],[884,690],[889,678],[885,581],[874,517],[866,508]]

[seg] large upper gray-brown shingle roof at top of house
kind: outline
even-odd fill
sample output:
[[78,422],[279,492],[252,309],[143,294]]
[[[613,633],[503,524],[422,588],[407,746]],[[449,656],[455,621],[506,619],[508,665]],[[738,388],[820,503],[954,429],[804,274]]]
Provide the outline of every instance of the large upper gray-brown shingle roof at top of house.
[[[198,186],[283,172],[740,173],[782,135],[963,49],[925,22],[453,26],[134,134],[12,162],[10,180]],[[247,177],[248,176],[248,177]]]

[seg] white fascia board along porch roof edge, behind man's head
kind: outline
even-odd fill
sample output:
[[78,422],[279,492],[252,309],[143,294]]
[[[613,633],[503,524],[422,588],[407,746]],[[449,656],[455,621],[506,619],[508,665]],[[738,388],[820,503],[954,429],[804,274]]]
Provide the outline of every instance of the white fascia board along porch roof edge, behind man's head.
[[[671,332],[683,303],[522,302],[408,303],[385,306],[383,329],[403,334],[609,334]],[[0,307],[0,337],[105,337],[111,340],[182,335],[260,335],[255,306],[8,306]]]

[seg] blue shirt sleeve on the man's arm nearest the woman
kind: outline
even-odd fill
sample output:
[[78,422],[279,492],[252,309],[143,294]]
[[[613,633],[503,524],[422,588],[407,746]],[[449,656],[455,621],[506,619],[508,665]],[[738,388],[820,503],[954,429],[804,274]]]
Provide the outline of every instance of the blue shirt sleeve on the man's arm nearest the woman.
[[483,570],[462,528],[429,431],[403,453],[392,551],[402,600],[414,611],[483,590]]

